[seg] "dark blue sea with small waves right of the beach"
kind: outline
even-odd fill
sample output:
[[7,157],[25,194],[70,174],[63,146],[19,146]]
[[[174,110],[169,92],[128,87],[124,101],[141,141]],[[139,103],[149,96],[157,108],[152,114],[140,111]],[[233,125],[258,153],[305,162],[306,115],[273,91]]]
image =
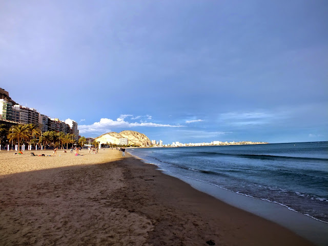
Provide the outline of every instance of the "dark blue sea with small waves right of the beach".
[[277,203],[328,223],[328,141],[128,152],[182,180]]

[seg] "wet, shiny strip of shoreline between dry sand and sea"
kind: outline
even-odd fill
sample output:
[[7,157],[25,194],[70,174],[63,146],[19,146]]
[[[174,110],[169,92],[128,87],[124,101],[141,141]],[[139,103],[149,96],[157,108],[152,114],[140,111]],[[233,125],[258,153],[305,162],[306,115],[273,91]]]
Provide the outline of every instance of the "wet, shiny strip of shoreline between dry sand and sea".
[[211,195],[216,199],[229,204],[230,206],[277,223],[317,245],[328,244],[328,237],[326,236],[326,232],[328,230],[327,222],[299,213],[284,204],[233,192],[213,185],[212,183],[171,173],[165,169],[162,169],[156,163],[151,163],[148,160],[144,160],[135,155],[132,156],[146,164],[156,166],[157,170],[160,172],[178,178],[183,182],[188,183],[194,189]]

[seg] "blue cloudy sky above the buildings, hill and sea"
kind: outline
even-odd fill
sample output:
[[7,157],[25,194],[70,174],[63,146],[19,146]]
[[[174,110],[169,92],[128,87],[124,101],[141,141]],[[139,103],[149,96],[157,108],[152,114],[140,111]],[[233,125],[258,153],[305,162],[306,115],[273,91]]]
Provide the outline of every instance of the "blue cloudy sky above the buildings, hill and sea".
[[328,2],[0,1],[0,87],[81,136],[328,140]]

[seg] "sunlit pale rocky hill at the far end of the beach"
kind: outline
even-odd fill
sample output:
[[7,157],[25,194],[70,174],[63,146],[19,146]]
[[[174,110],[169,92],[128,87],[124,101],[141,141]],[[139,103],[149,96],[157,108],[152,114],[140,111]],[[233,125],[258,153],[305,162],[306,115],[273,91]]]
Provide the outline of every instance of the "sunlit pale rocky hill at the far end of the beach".
[[128,138],[129,145],[151,145],[151,141],[145,134],[135,131],[121,131],[120,133],[108,132],[103,135],[100,135],[99,137],[96,137],[95,140],[99,141],[101,144],[119,144],[120,138]]

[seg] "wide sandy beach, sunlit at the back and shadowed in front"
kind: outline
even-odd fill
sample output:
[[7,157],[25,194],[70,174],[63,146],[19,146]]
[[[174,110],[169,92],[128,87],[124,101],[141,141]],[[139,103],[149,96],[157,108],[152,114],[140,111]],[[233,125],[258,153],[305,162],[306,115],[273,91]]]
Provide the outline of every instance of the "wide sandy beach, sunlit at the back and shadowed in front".
[[1,245],[312,245],[128,153],[80,154],[0,152]]

